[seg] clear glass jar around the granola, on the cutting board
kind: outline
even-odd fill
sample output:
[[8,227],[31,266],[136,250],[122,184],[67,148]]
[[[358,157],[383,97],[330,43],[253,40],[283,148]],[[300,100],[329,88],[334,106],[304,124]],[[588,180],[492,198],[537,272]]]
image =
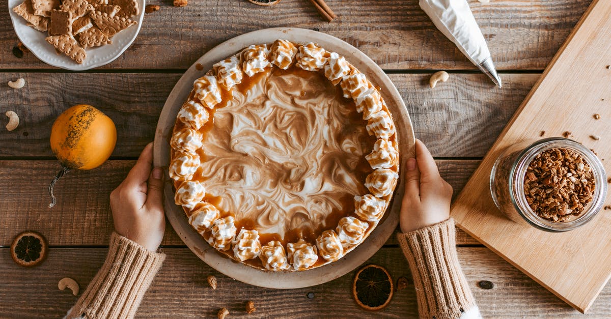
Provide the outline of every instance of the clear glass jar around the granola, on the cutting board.
[[[576,218],[554,222],[538,216],[530,208],[524,194],[526,169],[533,158],[549,149],[568,149],[576,152],[590,165],[594,177],[592,200]],[[587,147],[571,139],[547,138],[534,143],[522,142],[505,149],[492,166],[490,192],[497,208],[519,224],[533,226],[547,232],[566,232],[591,221],[601,210],[607,194],[607,174],[601,160]]]

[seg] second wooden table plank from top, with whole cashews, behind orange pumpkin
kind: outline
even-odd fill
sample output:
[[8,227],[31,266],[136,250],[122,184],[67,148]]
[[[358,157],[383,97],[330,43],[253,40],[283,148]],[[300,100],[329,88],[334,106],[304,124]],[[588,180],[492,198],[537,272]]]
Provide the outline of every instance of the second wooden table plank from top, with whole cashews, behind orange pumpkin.
[[[0,82],[23,77],[20,90],[0,88],[0,112],[20,116],[15,131],[0,130],[0,157],[53,156],[51,126],[62,111],[79,103],[108,114],[117,125],[114,156],[137,156],[153,140],[159,112],[179,74],[160,73],[0,73]],[[430,74],[391,74],[414,124],[434,156],[481,157],[539,78],[503,75],[503,88],[485,75],[452,74],[430,89]],[[2,116],[0,124],[8,119]],[[562,131],[549,132],[559,136]]]

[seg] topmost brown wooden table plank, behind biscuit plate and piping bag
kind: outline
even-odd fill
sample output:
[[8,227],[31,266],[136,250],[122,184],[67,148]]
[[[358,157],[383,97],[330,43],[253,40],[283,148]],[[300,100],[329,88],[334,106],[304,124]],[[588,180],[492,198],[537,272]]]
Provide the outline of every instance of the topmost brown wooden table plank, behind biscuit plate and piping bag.
[[[433,26],[417,0],[327,0],[339,16],[326,23],[309,1],[283,1],[260,7],[245,0],[190,1],[145,15],[133,45],[103,68],[188,68],[225,40],[257,29],[295,27],[334,35],[385,69],[475,69],[450,40]],[[543,69],[591,1],[469,0],[499,70]],[[0,1],[7,7],[7,0]],[[0,68],[51,68],[33,54],[18,59],[18,39],[7,10],[0,12]],[[504,80],[504,79],[503,79]]]

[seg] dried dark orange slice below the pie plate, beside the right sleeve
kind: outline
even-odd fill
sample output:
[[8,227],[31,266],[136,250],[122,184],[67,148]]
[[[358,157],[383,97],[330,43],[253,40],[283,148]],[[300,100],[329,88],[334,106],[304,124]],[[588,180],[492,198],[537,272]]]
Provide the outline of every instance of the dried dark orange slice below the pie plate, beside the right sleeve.
[[376,311],[388,306],[392,292],[392,278],[382,266],[365,266],[354,276],[352,295],[365,310]]

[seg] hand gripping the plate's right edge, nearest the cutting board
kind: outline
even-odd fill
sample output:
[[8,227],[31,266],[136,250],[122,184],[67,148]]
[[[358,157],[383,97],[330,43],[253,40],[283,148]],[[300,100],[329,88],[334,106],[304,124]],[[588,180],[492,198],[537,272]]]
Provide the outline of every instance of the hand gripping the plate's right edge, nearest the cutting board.
[[433,156],[419,139],[415,147],[416,158],[406,163],[401,232],[412,232],[450,218],[452,186],[441,178]]

